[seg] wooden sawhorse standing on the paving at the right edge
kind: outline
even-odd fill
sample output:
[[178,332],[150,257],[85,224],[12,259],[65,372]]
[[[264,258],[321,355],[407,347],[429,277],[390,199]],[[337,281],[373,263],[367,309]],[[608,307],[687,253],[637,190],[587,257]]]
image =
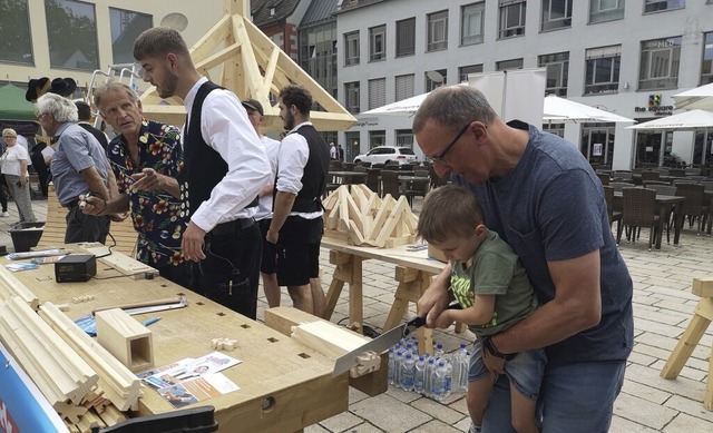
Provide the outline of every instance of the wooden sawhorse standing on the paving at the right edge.
[[[692,292],[694,295],[701,296],[701,301],[693,312],[688,327],[661,371],[663,378],[676,378],[713,321],[713,277],[694,278]],[[713,347],[711,347],[711,357],[709,358],[709,378],[705,384],[703,405],[709,411],[713,411]]]

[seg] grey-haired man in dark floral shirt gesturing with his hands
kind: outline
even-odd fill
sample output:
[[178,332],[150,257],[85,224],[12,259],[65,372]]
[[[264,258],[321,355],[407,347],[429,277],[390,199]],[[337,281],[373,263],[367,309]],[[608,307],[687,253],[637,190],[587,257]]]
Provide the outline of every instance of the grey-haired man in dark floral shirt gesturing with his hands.
[[92,215],[129,210],[138,232],[137,259],[186,288],[191,270],[180,252],[186,220],[180,218],[176,177],[183,169],[180,129],[147,120],[136,92],[121,82],[96,89],[94,104],[117,135],[107,147],[119,197],[105,203],[87,198]]

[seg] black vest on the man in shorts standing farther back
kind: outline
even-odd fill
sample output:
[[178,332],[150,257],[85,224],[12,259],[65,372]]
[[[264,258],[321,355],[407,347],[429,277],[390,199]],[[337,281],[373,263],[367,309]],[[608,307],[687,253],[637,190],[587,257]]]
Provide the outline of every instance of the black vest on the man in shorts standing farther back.
[[[319,135],[312,125],[301,126],[290,134],[299,134],[307,141],[310,157],[302,174],[302,189],[297,193],[292,205],[292,211],[313,213],[323,210],[322,196],[326,189],[326,173],[330,168],[330,149],[326,141]],[[277,194],[277,178],[275,178],[275,189],[273,198]],[[273,199],[274,203],[274,199]]]

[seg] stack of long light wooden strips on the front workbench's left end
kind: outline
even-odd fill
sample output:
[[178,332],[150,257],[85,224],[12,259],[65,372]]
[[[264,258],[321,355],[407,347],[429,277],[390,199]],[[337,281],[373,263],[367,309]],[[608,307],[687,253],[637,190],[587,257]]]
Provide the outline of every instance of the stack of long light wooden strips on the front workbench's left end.
[[121,411],[138,410],[140,380],[56,305],[45,303],[38,314],[25,298],[6,296],[0,341],[70,432],[111,426],[126,420]]

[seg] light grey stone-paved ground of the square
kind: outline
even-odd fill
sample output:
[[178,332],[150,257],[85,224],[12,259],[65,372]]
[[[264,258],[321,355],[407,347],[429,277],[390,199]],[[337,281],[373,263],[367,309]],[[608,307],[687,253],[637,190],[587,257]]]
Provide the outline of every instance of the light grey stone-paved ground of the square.
[[[418,210],[417,199],[414,208]],[[47,201],[35,200],[38,219],[47,215]],[[8,234],[18,220],[14,203],[8,206],[10,217],[0,218],[0,245],[13,250]],[[634,279],[635,345],[626,371],[624,388],[616,401],[612,432],[713,432],[713,412],[703,407],[703,394],[709,373],[709,358],[713,345],[713,327],[703,335],[692,357],[676,380],[660,376],[677,338],[691,321],[699,297],[691,293],[694,277],[713,275],[713,237],[699,236],[687,226],[680,246],[664,245],[660,252],[647,250],[648,230],[642,230],[635,244],[622,242],[619,250],[626,259]],[[333,266],[329,250],[321,255],[324,278],[329,287]],[[365,260],[363,265],[364,323],[379,331],[385,322],[393,301],[394,265]],[[344,292],[345,293],[345,292]],[[258,318],[266,307],[260,298]],[[283,293],[282,305],[291,305]],[[416,313],[411,306],[409,315]],[[332,322],[349,314],[346,296],[342,296]],[[346,322],[346,321],[344,321]],[[455,351],[470,334],[456,334],[452,329],[436,331],[433,338],[447,352]],[[306,433],[324,432],[465,432],[469,425],[466,402],[461,394],[451,395],[443,403],[412,392],[390,388],[387,393],[369,397],[350,390],[349,411],[305,429]]]

